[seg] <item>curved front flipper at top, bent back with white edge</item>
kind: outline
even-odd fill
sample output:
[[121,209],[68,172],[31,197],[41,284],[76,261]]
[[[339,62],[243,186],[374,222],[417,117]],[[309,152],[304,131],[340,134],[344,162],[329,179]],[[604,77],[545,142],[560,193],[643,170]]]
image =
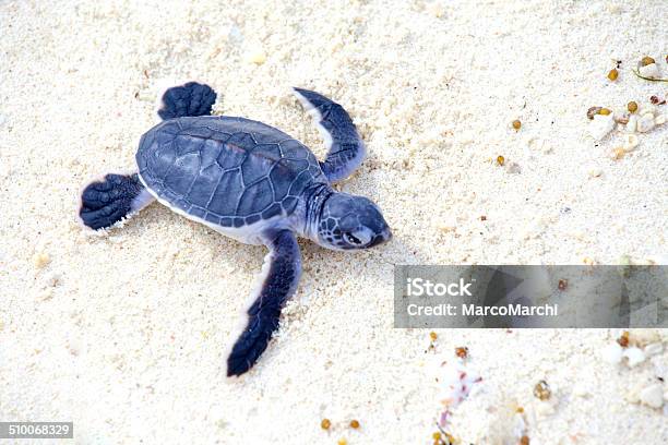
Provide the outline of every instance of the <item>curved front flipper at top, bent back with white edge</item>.
[[360,166],[367,151],[353,120],[343,107],[308,89],[293,88],[305,110],[318,120],[327,157],[321,163],[330,182],[349,177]]

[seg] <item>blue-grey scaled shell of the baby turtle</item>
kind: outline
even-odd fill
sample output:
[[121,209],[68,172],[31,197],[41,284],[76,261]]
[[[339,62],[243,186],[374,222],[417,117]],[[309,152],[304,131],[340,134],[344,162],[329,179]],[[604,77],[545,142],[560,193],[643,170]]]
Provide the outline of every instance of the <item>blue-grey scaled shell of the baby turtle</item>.
[[223,227],[295,212],[313,183],[326,183],[315,156],[262,122],[187,117],[146,132],[136,152],[144,184],[162,201]]

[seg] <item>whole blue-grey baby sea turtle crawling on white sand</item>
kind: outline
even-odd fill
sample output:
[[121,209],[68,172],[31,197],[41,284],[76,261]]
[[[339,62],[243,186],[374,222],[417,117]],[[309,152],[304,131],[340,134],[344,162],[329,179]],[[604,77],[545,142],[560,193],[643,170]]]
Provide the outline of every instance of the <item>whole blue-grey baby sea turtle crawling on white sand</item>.
[[318,93],[295,88],[295,94],[323,130],[324,161],[273,127],[211,116],[216,93],[190,82],[163,96],[163,122],[139,144],[139,172],[107,175],[82,193],[80,217],[93,229],[108,228],[157,200],[223,234],[269,248],[262,285],[227,359],[228,376],[248,371],[278,328],[281,310],[301,275],[297,237],[335,250],[372,248],[391,238],[375,204],[332,188],[365,157],[350,117]]

